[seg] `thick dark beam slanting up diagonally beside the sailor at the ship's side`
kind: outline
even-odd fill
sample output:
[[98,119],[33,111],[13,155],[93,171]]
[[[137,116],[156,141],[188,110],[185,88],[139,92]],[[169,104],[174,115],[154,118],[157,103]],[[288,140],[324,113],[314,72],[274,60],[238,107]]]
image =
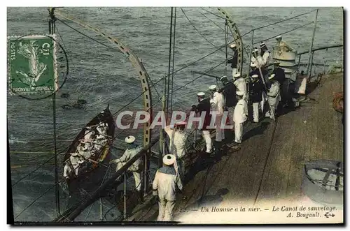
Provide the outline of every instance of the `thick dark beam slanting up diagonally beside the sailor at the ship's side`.
[[58,218],[55,219],[54,222],[58,222],[58,223],[62,223],[62,222],[71,222],[74,220],[74,218],[76,218],[77,216],[79,216],[79,214],[86,208],[88,207],[92,202],[94,202],[94,200],[96,200],[99,197],[99,193],[101,191],[104,191],[109,185],[113,184],[113,182],[120,176],[122,176],[123,174],[125,174],[125,172],[127,172],[127,169],[135,162],[137,161],[139,158],[141,158],[141,156],[143,156],[144,154],[146,154],[146,152],[148,151],[148,149],[151,149],[151,147],[153,147],[153,145],[155,143],[157,143],[159,140],[159,136],[156,137],[154,140],[152,140],[148,145],[146,145],[146,147],[144,147],[143,149],[141,149],[141,151],[139,151],[134,157],[132,157],[129,161],[127,161],[127,163],[125,163],[125,165],[123,165],[123,167],[121,167],[118,171],[116,171],[115,173],[113,173],[111,175],[111,177],[106,180],[104,182],[104,184],[102,184],[97,191],[94,191],[94,193],[92,193],[88,198],[86,198],[85,200],[83,200],[82,202],[80,202],[80,205],[74,209],[73,211],[71,211],[71,213],[68,216],[65,216],[63,218]]

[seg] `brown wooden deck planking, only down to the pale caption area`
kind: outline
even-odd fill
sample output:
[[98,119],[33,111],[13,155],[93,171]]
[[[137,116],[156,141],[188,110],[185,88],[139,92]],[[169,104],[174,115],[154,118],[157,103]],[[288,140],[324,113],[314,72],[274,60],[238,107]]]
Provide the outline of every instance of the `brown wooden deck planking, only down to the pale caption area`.
[[[324,78],[322,82],[323,87],[309,94],[320,103],[303,103],[299,110],[281,115],[275,131],[274,124],[269,124],[262,134],[244,140],[239,151],[229,151],[209,170],[197,172],[183,190],[187,200],[181,200],[183,195],[179,195],[176,207],[187,207],[222,188],[228,189],[223,195],[226,203],[253,202],[255,197],[257,202],[262,202],[298,196],[301,195],[302,163],[318,158],[342,161],[342,114],[332,108],[332,96],[342,91],[342,74]],[[264,121],[269,119],[260,124]],[[248,124],[244,133],[255,126],[258,125]],[[155,204],[151,209],[153,214],[157,209]]]

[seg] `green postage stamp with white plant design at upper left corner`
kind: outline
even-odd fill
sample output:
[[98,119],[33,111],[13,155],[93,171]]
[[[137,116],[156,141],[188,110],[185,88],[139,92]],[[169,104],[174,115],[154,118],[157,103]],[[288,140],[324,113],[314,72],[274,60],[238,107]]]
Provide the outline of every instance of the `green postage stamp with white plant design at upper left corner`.
[[55,40],[48,36],[8,37],[10,94],[48,94],[57,90]]

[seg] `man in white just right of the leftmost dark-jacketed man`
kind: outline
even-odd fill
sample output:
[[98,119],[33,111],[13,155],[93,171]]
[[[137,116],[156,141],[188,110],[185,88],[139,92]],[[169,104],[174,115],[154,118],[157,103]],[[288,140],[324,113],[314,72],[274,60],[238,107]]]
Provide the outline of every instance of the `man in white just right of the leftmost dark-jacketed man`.
[[216,112],[215,126],[216,126],[216,142],[221,142],[225,140],[225,131],[221,128],[221,124],[225,124],[223,121],[223,112],[225,107],[225,97],[223,94],[218,92],[218,87],[216,85],[211,85],[209,87],[211,91],[212,98],[210,100],[212,111]]

